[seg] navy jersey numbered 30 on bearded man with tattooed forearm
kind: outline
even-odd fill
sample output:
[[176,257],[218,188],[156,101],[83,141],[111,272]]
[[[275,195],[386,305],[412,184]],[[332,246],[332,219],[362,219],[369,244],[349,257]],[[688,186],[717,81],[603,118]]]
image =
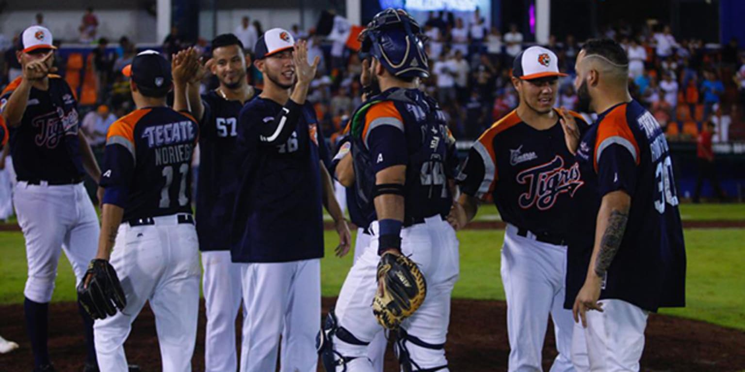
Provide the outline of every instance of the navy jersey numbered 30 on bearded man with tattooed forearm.
[[624,190],[631,209],[621,247],[603,278],[600,299],[644,310],[685,304],[685,245],[665,134],[638,102],[613,106],[597,118],[577,151],[582,182],[575,196],[566,275],[571,308],[586,278],[595,225],[606,193]]

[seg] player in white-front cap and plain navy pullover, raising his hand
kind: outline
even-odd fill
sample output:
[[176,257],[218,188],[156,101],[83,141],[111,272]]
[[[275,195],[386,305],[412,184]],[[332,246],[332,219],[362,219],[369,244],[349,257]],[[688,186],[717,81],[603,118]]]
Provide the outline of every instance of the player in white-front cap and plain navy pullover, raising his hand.
[[275,371],[281,334],[280,371],[316,371],[322,205],[335,220],[337,254],[349,251],[350,240],[323,164],[326,144],[305,101],[319,59],[308,65],[307,44],[296,45],[281,28],[266,31],[255,54],[264,91],[241,110],[235,145],[240,208],[233,213],[231,253],[241,263],[250,313],[240,370]]

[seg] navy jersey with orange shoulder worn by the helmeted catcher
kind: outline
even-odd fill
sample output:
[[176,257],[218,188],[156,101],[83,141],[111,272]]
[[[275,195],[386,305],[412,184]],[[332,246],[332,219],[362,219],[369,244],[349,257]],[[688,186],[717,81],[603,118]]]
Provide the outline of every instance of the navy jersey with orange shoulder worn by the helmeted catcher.
[[406,166],[404,225],[447,216],[452,205],[454,138],[437,103],[419,89],[388,89],[367,101],[352,117],[352,158],[356,201],[375,220],[375,174]]

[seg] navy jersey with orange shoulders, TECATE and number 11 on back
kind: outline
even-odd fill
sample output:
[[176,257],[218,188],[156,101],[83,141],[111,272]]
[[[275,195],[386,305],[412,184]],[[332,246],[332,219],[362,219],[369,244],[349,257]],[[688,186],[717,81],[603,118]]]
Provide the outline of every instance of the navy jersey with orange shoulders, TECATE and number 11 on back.
[[104,203],[124,208],[123,221],[191,213],[191,155],[199,126],[168,107],[137,109],[107,133]]

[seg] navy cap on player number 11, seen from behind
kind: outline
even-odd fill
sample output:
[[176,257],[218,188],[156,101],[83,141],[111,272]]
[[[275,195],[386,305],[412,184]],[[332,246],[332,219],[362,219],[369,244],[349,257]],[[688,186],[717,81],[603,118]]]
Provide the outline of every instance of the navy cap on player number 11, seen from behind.
[[130,77],[139,88],[165,95],[171,90],[171,63],[157,51],[139,52],[121,73]]

